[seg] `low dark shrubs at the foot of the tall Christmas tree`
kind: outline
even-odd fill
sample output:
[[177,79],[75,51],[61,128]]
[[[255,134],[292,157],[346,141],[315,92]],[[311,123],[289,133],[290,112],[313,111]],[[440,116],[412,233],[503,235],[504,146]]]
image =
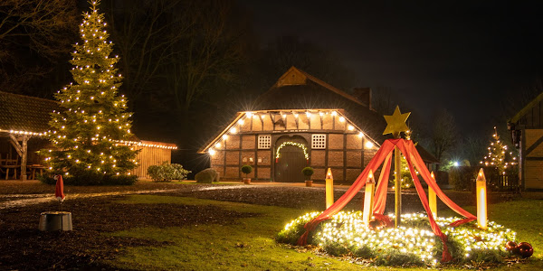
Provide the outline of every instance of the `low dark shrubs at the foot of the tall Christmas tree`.
[[[43,174],[38,177],[41,182],[47,184],[55,184],[56,181],[52,176]],[[138,182],[136,175],[109,175],[102,173],[93,173],[83,171],[75,173],[69,177],[62,178],[66,185],[132,185]]]

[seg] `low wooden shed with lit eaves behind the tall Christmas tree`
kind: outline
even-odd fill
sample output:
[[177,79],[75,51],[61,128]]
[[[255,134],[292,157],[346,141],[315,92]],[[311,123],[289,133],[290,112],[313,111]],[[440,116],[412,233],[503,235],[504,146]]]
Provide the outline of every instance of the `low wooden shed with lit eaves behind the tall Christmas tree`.
[[[26,180],[43,172],[43,158],[35,152],[50,145],[43,133],[49,130],[50,114],[59,108],[54,100],[0,91],[0,178]],[[139,178],[148,178],[149,165],[171,162],[171,151],[176,149],[173,144],[138,138],[123,143],[141,149],[138,168],[131,171]]]

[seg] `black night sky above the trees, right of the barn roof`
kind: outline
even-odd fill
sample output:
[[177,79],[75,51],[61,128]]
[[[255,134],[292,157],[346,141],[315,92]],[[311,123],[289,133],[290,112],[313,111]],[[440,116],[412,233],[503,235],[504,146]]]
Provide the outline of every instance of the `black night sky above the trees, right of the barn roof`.
[[355,72],[353,87],[392,89],[424,123],[444,107],[464,134],[505,126],[500,103],[541,79],[541,1],[360,2],[239,1],[262,43],[309,40]]

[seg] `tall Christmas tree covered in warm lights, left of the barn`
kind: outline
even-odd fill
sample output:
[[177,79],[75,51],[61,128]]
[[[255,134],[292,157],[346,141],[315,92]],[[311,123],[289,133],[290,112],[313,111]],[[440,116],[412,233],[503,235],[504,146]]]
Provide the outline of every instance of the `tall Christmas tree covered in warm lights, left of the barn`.
[[[42,150],[49,170],[65,178],[92,176],[104,180],[129,174],[137,152],[126,145],[131,113],[127,98],[118,94],[121,75],[115,68],[119,56],[110,57],[112,42],[100,1],[89,2],[90,12],[80,24],[81,42],[71,52],[71,83],[55,95],[61,110],[52,113],[47,134],[52,149]],[[116,177],[114,177],[116,178]]]

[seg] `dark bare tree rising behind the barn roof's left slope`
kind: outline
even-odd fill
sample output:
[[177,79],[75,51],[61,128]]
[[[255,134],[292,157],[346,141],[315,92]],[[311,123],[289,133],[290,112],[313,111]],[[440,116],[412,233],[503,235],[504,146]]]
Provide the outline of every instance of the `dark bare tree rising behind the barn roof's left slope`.
[[[167,89],[182,114],[195,101],[208,103],[213,96],[228,94],[239,78],[239,67],[247,61],[246,32],[233,20],[230,1],[191,1],[185,22],[173,33],[184,33],[170,48]],[[242,29],[240,29],[240,27]],[[219,91],[221,90],[221,91]]]

